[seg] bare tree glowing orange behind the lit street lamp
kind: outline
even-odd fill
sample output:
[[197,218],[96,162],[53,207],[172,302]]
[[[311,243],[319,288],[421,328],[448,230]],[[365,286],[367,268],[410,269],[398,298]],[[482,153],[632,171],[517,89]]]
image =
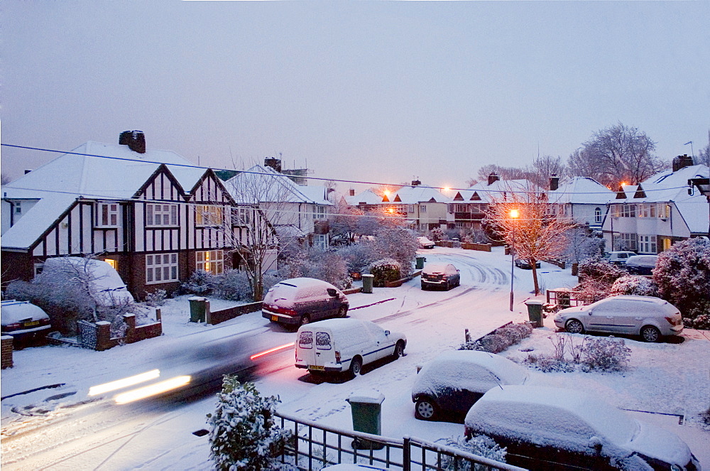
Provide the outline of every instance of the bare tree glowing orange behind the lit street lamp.
[[567,241],[562,234],[575,226],[574,221],[557,217],[553,205],[547,201],[547,194],[536,188],[532,184],[509,188],[505,198],[491,198],[486,214],[493,233],[513,247],[519,259],[532,266],[535,295],[540,293],[535,264],[563,254]]

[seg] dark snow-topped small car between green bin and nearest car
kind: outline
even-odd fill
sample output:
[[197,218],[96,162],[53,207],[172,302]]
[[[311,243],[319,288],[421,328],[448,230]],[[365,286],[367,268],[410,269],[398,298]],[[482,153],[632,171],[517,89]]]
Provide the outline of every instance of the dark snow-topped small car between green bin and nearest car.
[[452,350],[425,364],[412,386],[414,416],[435,421],[463,416],[491,388],[524,384],[528,371],[501,355]]

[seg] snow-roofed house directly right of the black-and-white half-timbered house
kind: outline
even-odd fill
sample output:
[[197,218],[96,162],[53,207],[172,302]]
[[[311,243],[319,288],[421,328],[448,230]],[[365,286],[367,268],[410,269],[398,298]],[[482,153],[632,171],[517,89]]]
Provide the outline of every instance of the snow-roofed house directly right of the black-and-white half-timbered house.
[[291,176],[275,170],[273,161],[278,159],[268,158],[270,165],[236,172],[224,182],[226,189],[240,205],[260,208],[283,237],[327,248],[328,216],[333,207],[327,188],[297,185]]

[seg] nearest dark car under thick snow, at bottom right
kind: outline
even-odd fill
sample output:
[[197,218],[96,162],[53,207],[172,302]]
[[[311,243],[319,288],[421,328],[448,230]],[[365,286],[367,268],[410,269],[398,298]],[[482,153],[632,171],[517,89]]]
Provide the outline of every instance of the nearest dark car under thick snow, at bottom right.
[[506,462],[535,470],[699,470],[674,433],[637,421],[594,394],[545,386],[502,386],[476,401],[466,436],[507,447]]

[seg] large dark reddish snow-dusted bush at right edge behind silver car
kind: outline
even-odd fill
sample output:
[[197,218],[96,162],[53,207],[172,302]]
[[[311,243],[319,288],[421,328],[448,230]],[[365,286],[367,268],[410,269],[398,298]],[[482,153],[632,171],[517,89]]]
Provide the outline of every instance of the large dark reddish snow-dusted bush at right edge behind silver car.
[[710,316],[710,242],[697,237],[677,242],[662,251],[658,254],[653,281],[658,286],[659,296],[680,310],[684,324],[710,327],[707,325],[710,324],[707,322]]

